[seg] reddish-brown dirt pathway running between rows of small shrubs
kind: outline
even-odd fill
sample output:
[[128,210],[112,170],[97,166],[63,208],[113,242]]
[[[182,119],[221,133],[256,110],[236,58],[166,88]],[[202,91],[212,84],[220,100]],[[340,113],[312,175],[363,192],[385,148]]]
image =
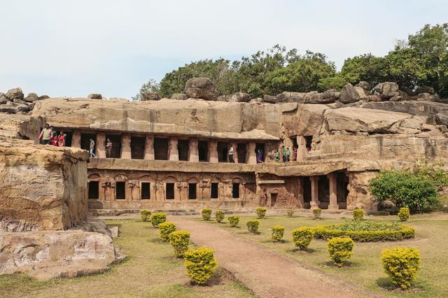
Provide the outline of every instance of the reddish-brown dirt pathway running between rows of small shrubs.
[[191,218],[172,216],[198,246],[214,248],[221,267],[260,297],[371,297],[356,286],[302,267],[269,248]]

